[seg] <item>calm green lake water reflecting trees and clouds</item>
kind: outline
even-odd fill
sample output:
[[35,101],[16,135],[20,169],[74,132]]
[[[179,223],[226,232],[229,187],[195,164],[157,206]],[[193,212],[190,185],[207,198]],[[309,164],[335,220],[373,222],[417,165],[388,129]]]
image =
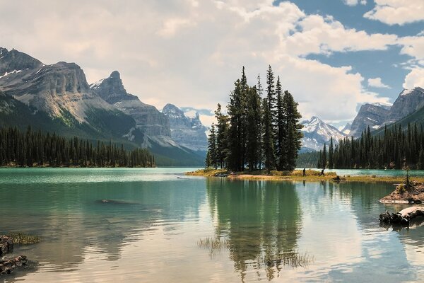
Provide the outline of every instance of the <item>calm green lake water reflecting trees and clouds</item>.
[[[382,183],[277,183],[187,168],[0,170],[0,233],[42,237],[6,282],[413,282],[424,226],[379,227]],[[113,200],[101,202],[101,200]],[[228,248],[199,247],[220,238]],[[298,252],[303,267],[266,265]]]

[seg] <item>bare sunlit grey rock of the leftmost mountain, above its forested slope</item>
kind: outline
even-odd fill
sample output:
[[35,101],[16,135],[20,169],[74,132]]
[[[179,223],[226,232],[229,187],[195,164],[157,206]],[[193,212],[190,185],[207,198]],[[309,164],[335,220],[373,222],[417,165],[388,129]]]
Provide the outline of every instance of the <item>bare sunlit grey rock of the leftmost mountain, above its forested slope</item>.
[[90,91],[86,75],[77,64],[45,65],[16,50],[3,48],[0,52],[0,88],[8,96],[51,117],[65,117],[69,112],[76,121],[88,124],[88,110],[112,110]]

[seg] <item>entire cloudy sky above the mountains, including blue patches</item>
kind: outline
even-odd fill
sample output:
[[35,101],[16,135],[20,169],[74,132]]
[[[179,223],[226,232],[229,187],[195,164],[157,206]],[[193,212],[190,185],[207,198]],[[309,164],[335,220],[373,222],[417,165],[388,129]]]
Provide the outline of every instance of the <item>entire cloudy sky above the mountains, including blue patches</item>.
[[88,82],[121,73],[158,109],[226,105],[245,66],[269,65],[304,118],[336,126],[363,103],[424,87],[423,0],[0,0],[0,47],[76,62]]

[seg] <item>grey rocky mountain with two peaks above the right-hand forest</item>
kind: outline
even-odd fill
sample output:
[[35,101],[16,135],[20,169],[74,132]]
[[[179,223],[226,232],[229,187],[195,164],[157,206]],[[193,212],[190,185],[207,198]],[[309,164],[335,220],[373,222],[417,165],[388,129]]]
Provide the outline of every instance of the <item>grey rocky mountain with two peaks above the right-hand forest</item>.
[[[391,107],[381,104],[364,104],[361,106],[355,120],[353,120],[351,135],[360,137],[360,133],[368,126],[372,129],[379,129],[384,125],[391,125],[401,120],[404,121],[406,117],[413,115],[422,109],[423,106],[424,89],[420,87],[401,91]],[[415,114],[414,117],[406,120],[416,120],[418,114]]]

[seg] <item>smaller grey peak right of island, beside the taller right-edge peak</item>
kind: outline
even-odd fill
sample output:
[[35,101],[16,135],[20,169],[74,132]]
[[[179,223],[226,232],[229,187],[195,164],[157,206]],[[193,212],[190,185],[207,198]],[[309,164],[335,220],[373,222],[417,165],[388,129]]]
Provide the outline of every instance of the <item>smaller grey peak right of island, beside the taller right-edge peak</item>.
[[360,137],[360,133],[367,127],[378,129],[387,120],[389,113],[389,106],[371,103],[363,104],[352,122],[349,135]]

